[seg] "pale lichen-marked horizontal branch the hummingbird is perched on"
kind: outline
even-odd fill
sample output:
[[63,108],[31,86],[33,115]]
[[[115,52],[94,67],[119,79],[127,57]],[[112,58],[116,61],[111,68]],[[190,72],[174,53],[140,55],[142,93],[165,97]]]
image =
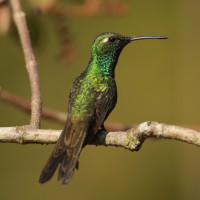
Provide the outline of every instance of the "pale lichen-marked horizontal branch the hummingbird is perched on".
[[[0,128],[0,142],[19,144],[55,143],[61,130],[32,129],[27,126]],[[125,132],[99,132],[92,145],[116,146],[138,151],[147,138],[174,139],[200,146],[200,132],[158,122],[143,122]]]

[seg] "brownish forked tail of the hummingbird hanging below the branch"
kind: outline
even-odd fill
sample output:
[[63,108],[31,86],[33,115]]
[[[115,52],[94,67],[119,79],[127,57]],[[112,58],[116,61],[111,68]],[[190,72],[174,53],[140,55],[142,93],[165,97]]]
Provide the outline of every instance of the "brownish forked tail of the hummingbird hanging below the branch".
[[80,151],[86,138],[88,126],[78,120],[67,120],[60,138],[54,150],[44,166],[39,183],[47,182],[56,171],[59,163],[58,182],[67,184],[70,182],[77,166]]

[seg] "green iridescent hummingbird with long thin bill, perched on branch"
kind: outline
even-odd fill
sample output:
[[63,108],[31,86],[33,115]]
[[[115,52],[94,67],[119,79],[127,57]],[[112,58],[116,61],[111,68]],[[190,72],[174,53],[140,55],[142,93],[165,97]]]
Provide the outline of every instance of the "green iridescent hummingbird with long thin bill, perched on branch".
[[68,116],[62,133],[54,146],[39,183],[53,176],[58,165],[58,182],[68,184],[79,166],[79,156],[95,137],[104,130],[104,121],[117,103],[115,67],[122,49],[143,39],[167,39],[163,36],[128,37],[105,32],[96,37],[86,69],[75,79],[68,97]]

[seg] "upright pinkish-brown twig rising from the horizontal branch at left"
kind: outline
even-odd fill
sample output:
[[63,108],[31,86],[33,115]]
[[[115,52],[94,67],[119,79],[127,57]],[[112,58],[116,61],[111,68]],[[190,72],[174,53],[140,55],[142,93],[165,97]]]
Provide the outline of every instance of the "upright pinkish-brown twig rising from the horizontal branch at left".
[[10,4],[13,10],[13,18],[17,26],[22,48],[26,61],[26,68],[30,78],[31,84],[31,121],[30,125],[34,128],[40,127],[41,121],[41,93],[40,82],[37,70],[37,63],[33,53],[31,40],[26,24],[25,13],[22,11],[20,0],[10,0]]

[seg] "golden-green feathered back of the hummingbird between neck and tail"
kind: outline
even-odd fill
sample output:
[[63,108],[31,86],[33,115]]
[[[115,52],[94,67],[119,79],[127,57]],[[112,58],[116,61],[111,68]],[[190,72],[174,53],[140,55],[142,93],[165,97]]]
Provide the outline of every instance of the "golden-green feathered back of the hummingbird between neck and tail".
[[108,88],[116,90],[116,84],[112,77],[105,76],[97,69],[83,73],[75,80],[71,89],[68,115],[80,120],[92,117],[95,112],[97,96],[103,94]]

